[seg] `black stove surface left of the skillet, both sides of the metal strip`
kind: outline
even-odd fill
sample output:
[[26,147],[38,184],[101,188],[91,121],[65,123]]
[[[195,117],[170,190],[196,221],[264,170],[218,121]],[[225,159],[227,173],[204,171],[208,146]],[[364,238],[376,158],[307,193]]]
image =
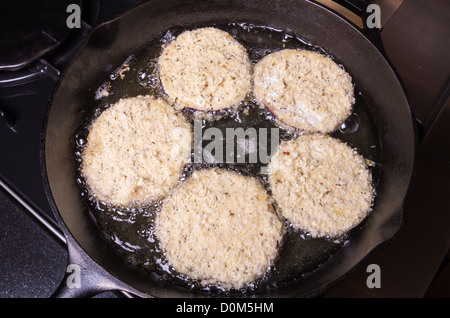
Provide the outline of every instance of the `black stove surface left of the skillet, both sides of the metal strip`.
[[[2,60],[24,67],[0,72],[0,298],[50,297],[63,279],[65,238],[47,201],[39,162],[46,108],[61,71],[89,30],[140,2],[84,1],[82,28],[51,53]],[[117,296],[123,295],[97,297]]]

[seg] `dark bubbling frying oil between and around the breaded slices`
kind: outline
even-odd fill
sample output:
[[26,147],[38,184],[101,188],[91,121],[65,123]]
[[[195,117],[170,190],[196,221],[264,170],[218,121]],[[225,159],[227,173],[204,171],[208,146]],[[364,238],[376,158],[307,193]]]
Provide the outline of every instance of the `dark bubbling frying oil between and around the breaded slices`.
[[[295,37],[286,37],[286,34],[269,28],[248,28],[247,25],[221,25],[221,27],[230,32],[236,39],[248,48],[252,62],[260,60],[263,56],[279,50],[282,47],[305,48],[322,52],[316,46],[305,43]],[[162,38],[140,52],[136,52],[124,64],[116,69],[109,79],[99,83],[98,92],[103,92],[96,99],[98,109],[104,108],[126,95],[135,96],[138,94],[152,94],[154,96],[163,96],[159,79],[156,76],[156,61],[161,50],[161,44],[165,41],[173,40],[175,34],[182,30],[175,28],[169,30]],[[269,36],[270,35],[270,36]],[[267,40],[264,46],[261,46],[261,38]],[[286,40],[286,38],[288,40]],[[153,56],[153,58],[148,57]],[[126,65],[126,66],[124,66]],[[125,70],[125,71],[124,71]],[[136,80],[137,79],[137,80]],[[106,93],[105,93],[106,87]],[[350,115],[346,124],[333,132],[333,136],[348,142],[352,147],[356,147],[366,158],[379,162],[379,141],[376,134],[370,108],[364,99],[356,91],[356,102],[353,113]],[[189,111],[185,115],[192,120]],[[247,96],[241,108],[236,113],[230,113],[230,116],[218,119],[213,122],[203,121],[203,131],[209,127],[218,127],[225,131],[229,127],[255,127],[255,128],[276,128],[274,116],[267,110],[257,106],[253,96]],[[81,129],[77,139],[86,137],[86,131]],[[295,133],[280,129],[280,138],[290,140],[295,138]],[[269,135],[270,142],[270,135]],[[261,168],[267,163],[258,162],[256,164],[191,164],[184,170],[185,177],[192,174],[192,171],[208,168],[211,166],[220,166],[233,171],[238,171],[244,175],[255,176],[266,186],[267,177],[261,174]],[[377,180],[377,167],[373,168],[374,183]],[[82,185],[83,186],[83,185]],[[138,268],[143,268],[149,272],[150,279],[174,284],[174,286],[192,286],[199,292],[204,288],[197,282],[186,279],[176,274],[173,270],[167,270],[168,264],[164,262],[161,250],[158,248],[154,239],[153,223],[155,213],[158,210],[158,204],[150,207],[142,207],[134,210],[116,209],[106,205],[98,204],[90,198],[90,205],[97,222],[118,253],[127,259],[127,261]],[[128,222],[132,220],[133,222]],[[335,240],[327,238],[311,238],[306,233],[295,230],[288,230],[285,242],[281,250],[280,257],[267,276],[256,282],[247,291],[258,292],[267,287],[281,286],[290,284],[292,280],[302,279],[305,275],[313,272],[320,264],[325,263],[335,255],[345,244],[348,243],[350,236],[345,235]],[[144,252],[147,251],[147,252]],[[150,251],[150,253],[148,253]],[[163,269],[164,268],[164,269]],[[219,291],[220,292],[220,291]]]

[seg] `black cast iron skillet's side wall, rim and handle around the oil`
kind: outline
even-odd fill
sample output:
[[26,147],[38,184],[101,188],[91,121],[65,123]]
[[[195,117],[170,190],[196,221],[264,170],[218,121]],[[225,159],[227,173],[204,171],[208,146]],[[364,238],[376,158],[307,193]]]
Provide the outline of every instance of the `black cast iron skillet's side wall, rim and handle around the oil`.
[[416,129],[403,87],[388,60],[369,40],[369,30],[361,31],[308,0],[149,1],[92,31],[49,104],[42,133],[42,174],[50,205],[67,238],[69,264],[81,270],[81,288],[68,288],[64,279],[54,296],[92,296],[105,290],[141,297],[214,296],[155,283],[126,266],[105,243],[77,186],[74,135],[85,114],[92,111],[95,90],[128,56],[173,26],[230,22],[290,30],[339,60],[370,107],[380,144],[377,199],[363,226],[317,270],[257,296],[320,295],[401,229],[414,171]]

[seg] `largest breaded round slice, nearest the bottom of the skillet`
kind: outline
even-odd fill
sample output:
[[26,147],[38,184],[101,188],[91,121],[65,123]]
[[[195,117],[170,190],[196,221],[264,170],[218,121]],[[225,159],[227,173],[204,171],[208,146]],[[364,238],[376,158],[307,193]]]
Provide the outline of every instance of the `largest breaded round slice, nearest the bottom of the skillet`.
[[202,284],[242,288],[264,275],[283,223],[262,184],[225,169],[195,171],[163,201],[155,234],[169,263]]

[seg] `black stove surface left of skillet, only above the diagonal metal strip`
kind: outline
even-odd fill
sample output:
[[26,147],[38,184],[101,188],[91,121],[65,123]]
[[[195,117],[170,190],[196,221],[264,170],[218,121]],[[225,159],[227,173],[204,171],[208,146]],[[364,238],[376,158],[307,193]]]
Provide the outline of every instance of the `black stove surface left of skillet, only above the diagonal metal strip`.
[[0,110],[4,117],[3,122],[0,121],[0,144],[2,153],[5,152],[0,157],[0,178],[50,219],[54,216],[42,186],[39,146],[53,90],[61,71],[93,27],[90,24],[109,21],[140,2],[121,0],[112,5],[98,0],[85,1],[83,17],[86,18],[82,18],[82,28],[74,30],[58,49],[37,60],[30,60],[17,72],[0,72]]

